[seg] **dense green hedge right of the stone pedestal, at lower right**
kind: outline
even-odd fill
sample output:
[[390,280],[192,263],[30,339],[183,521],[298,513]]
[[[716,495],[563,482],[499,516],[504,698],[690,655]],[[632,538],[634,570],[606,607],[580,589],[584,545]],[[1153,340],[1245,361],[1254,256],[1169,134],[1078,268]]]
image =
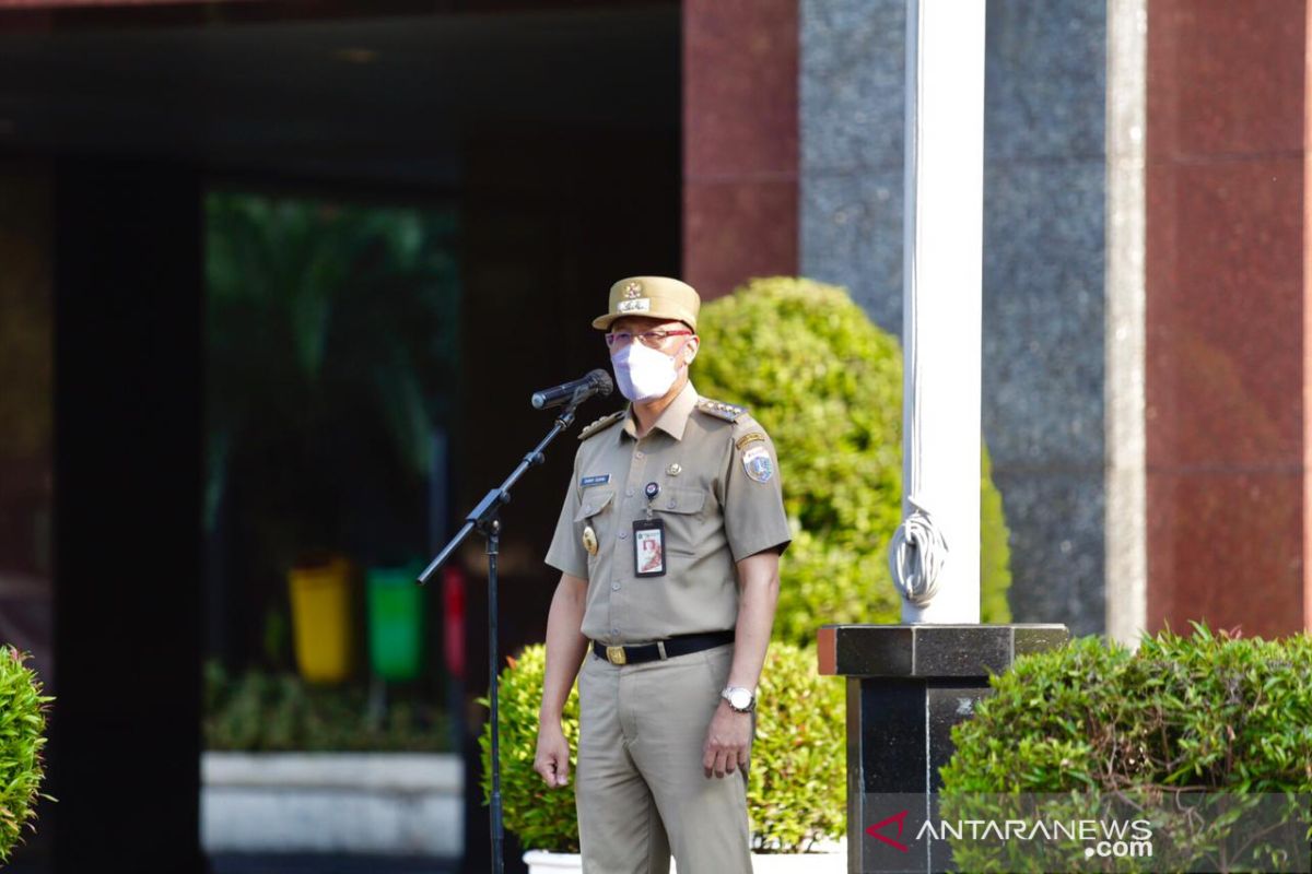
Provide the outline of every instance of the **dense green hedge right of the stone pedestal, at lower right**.
[[[1110,799],[1132,801],[1147,805],[1139,815],[1153,822],[1155,857],[1117,860],[1114,870],[1246,870],[1274,844],[1256,840],[1246,861],[1207,866],[1245,799],[1312,793],[1312,636],[1235,639],[1195,625],[1191,637],[1162,633],[1138,653],[1090,637],[1019,658],[991,684],[994,694],[953,730],[956,751],[941,769],[945,818],[1006,819],[1022,793],[1050,798],[1048,812],[1084,816]],[[1190,797],[1229,805],[1228,814],[1190,822],[1174,812]],[[954,849],[972,871],[1054,861],[1015,843]]]

